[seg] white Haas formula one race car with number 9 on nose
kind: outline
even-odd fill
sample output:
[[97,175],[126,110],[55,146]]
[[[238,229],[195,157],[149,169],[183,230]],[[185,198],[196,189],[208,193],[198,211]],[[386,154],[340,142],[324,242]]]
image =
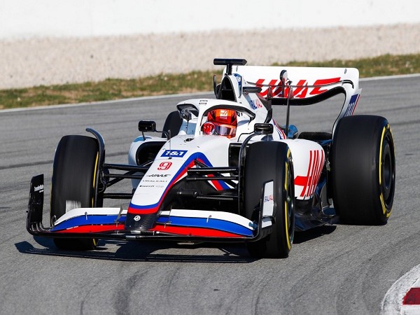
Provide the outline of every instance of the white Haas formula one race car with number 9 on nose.
[[[245,242],[251,256],[288,256],[295,231],[325,223],[386,223],[395,190],[391,128],[353,116],[358,70],[225,66],[215,99],[188,99],[162,132],[140,121],[127,165],[105,159],[104,140],[66,136],[55,152],[50,227],[42,224],[43,175],[31,181],[27,230],[58,248],[94,249],[97,239]],[[302,132],[290,106],[344,94],[331,133]],[[286,125],[272,118],[286,106]],[[125,193],[106,189],[131,179]],[[103,207],[107,198],[128,209]],[[127,201],[128,204],[128,201]]]

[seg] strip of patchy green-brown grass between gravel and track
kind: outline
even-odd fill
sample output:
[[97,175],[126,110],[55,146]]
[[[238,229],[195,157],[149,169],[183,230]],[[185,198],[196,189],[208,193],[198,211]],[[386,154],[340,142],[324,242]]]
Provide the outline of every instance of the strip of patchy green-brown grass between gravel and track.
[[[360,78],[366,78],[420,73],[420,55],[383,55],[358,60],[288,62],[282,65],[357,68]],[[132,80],[109,78],[99,82],[0,90],[0,109],[211,91],[214,73],[216,71],[193,71],[183,74],[160,74]],[[221,73],[217,74],[220,77]]]

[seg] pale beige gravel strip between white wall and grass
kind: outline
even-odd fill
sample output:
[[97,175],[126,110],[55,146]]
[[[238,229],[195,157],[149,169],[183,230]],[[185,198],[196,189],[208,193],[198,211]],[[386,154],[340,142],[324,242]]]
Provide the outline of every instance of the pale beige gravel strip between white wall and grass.
[[3,40],[0,89],[217,69],[214,57],[269,65],[412,53],[420,24]]

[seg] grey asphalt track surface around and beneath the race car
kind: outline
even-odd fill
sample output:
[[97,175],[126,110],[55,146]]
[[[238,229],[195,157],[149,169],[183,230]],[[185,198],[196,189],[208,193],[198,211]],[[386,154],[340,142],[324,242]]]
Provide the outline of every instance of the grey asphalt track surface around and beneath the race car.
[[[29,181],[45,174],[49,199],[63,135],[92,127],[104,136],[106,160],[123,163],[138,120],[162,127],[186,97],[0,112],[0,314],[379,314],[388,288],[420,262],[419,86],[419,76],[360,82],[356,114],[384,116],[393,130],[397,188],[388,224],[302,232],[283,260],[251,259],[241,244],[101,241],[96,251],[58,251],[25,230]],[[328,131],[333,109],[332,102],[293,109],[291,122]],[[282,109],[274,111],[283,123]]]

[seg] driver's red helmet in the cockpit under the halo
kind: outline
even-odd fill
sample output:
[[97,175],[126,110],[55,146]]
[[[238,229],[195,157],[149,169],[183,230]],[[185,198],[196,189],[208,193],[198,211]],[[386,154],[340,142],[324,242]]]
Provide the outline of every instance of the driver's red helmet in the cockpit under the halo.
[[237,113],[233,109],[213,109],[207,114],[207,122],[202,125],[203,134],[216,134],[228,138],[235,137]]

